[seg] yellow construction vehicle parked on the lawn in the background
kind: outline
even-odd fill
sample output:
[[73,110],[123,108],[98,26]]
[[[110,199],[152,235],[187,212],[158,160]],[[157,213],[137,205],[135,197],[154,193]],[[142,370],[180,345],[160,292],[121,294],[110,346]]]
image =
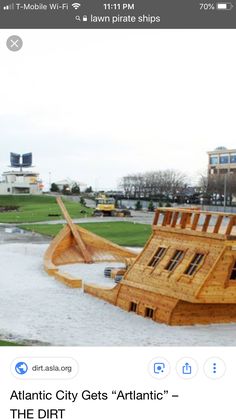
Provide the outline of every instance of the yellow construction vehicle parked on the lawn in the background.
[[131,213],[127,209],[116,208],[116,201],[114,198],[107,197],[106,195],[99,195],[96,198],[96,208],[93,215],[98,217],[128,217]]

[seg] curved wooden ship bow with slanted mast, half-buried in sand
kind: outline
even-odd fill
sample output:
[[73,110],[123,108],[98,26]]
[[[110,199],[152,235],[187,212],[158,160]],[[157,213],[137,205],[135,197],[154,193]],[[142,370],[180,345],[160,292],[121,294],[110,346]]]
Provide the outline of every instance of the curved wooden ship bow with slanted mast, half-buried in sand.
[[57,203],[67,224],[52,240],[44,255],[44,269],[49,275],[65,285],[81,288],[82,279],[62,272],[60,265],[104,261],[128,264],[137,256],[136,253],[75,225],[60,197],[57,198]]

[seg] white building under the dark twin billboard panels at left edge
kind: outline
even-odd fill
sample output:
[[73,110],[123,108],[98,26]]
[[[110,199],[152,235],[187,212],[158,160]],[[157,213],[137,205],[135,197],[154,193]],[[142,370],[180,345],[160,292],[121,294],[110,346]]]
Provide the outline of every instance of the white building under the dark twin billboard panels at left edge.
[[36,172],[10,170],[2,174],[0,195],[39,195],[42,191],[43,184],[39,179],[39,174]]

